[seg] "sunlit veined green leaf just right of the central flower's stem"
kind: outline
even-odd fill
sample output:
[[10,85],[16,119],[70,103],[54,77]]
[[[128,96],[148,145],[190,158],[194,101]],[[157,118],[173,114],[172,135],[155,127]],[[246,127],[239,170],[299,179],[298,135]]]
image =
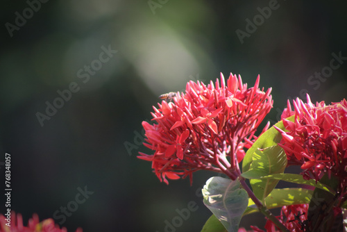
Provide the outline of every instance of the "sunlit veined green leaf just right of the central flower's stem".
[[269,174],[279,174],[285,172],[287,166],[287,156],[285,151],[278,145],[258,149],[253,154],[253,162],[247,172],[242,176],[250,178],[255,197],[264,201],[265,197],[276,187],[277,179],[260,179]]

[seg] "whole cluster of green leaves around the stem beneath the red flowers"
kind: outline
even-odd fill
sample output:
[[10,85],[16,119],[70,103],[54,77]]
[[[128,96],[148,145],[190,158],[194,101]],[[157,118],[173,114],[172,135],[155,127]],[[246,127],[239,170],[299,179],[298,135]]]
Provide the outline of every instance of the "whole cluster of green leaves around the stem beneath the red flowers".
[[[294,116],[287,118],[294,121]],[[282,121],[276,124],[285,131]],[[302,175],[288,174],[287,156],[278,145],[282,135],[273,127],[264,132],[248,149],[242,163],[242,177],[249,179],[253,193],[262,201],[267,209],[280,208],[295,204],[310,204],[310,215],[314,213],[313,207],[318,207],[316,202],[332,202],[336,194],[336,186],[327,180],[305,180]],[[287,181],[301,185],[310,185],[315,190],[305,188],[276,189],[278,181]],[[212,177],[203,188],[204,204],[214,215],[203,226],[204,232],[212,231],[237,231],[243,215],[259,212],[257,206],[250,198],[246,190],[239,188],[239,181],[231,181],[221,177]],[[248,201],[248,202],[247,202]],[[315,204],[315,205],[314,205]],[[319,210],[326,204],[320,204]],[[310,216],[309,215],[309,216]]]

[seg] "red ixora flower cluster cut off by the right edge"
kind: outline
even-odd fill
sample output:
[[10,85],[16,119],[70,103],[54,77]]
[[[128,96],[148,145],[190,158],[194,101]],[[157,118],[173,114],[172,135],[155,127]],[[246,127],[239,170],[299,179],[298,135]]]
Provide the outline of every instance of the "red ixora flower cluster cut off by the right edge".
[[[347,183],[347,101],[325,106],[324,101],[312,104],[296,99],[294,110],[288,101],[282,113],[287,131],[282,134],[280,146],[285,149],[289,165],[301,165],[305,179],[319,181],[323,174],[339,179],[340,190]],[[295,115],[295,121],[287,117]]]

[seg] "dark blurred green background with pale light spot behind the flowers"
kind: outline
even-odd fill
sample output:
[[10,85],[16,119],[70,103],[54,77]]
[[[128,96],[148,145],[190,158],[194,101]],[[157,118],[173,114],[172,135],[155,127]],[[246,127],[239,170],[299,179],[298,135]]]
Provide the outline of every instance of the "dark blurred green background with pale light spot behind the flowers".
[[[257,8],[269,4],[276,10],[262,22]],[[285,0],[3,1],[1,196],[8,153],[11,209],[22,213],[24,222],[33,213],[53,217],[75,200],[77,188],[87,186],[94,193],[66,217],[62,226],[68,231],[81,226],[162,232],[165,221],[172,222],[176,209],[190,201],[198,210],[175,231],[200,231],[211,213],[199,189],[213,173],[197,172],[192,186],[188,179],[166,185],[151,172],[151,163],[136,158],[138,151],[151,152],[139,144],[141,122],[151,119],[158,95],[182,91],[189,80],[208,83],[219,72],[232,72],[248,85],[260,74],[260,86],[273,88],[271,122],[287,99],[303,97],[301,92],[309,92],[312,101],[341,101],[347,58],[323,81],[310,76],[328,70],[332,53],[347,57],[346,6],[346,1]],[[26,15],[26,22],[18,15]],[[235,31],[247,33],[246,20],[254,17],[260,20],[256,30],[240,40]],[[114,51],[98,63],[102,47]],[[87,74],[90,65],[98,70]],[[53,103],[57,91],[71,83],[78,91],[42,126],[37,113],[46,114],[46,101]],[[4,197],[1,201],[3,213]],[[262,219],[246,217],[242,225],[262,225]]]

